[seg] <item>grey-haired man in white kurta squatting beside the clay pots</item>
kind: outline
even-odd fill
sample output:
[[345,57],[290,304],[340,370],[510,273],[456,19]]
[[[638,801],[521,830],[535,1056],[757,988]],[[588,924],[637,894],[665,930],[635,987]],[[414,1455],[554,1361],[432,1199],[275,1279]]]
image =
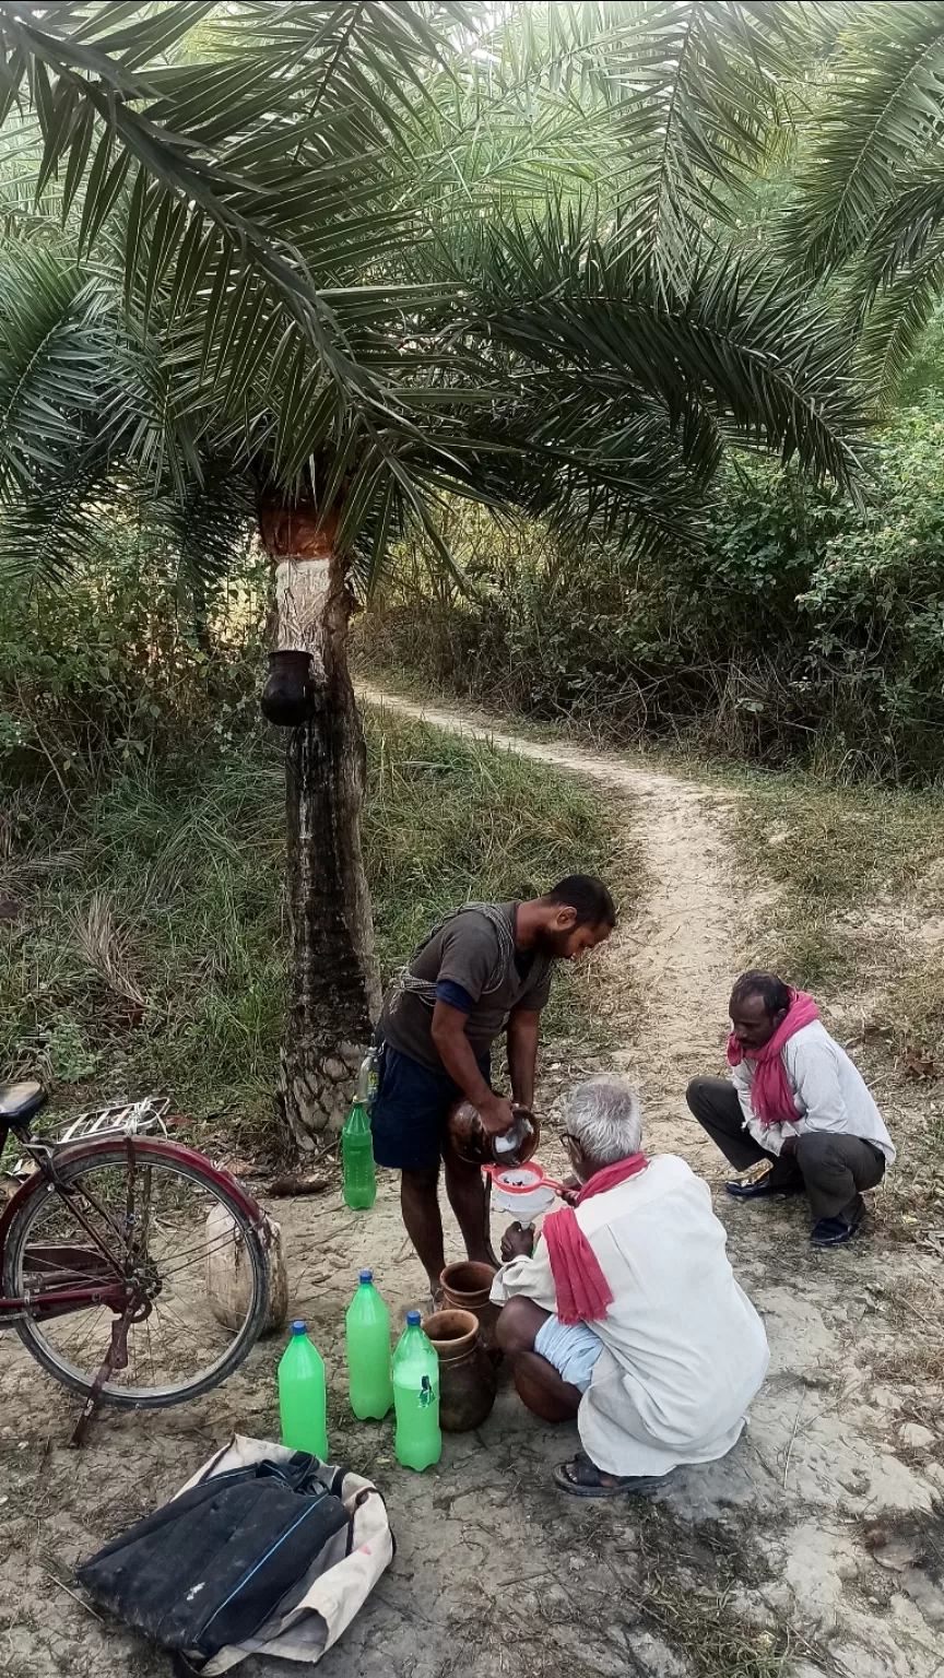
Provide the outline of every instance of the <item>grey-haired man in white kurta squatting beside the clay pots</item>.
[[680,1463],[724,1457],[768,1368],[764,1326],[734,1280],[711,1193],[684,1159],[640,1153],[621,1077],[566,1104],[574,1205],[512,1225],[492,1300],[519,1396],[576,1416],[583,1451],[554,1470],[573,1497],[653,1490]]

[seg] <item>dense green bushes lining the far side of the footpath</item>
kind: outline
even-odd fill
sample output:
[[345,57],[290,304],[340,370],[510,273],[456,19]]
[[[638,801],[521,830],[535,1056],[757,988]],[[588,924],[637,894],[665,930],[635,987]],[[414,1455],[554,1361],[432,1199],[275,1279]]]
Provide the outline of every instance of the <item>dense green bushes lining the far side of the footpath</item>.
[[847,777],[944,767],[944,404],[875,438],[862,500],[726,468],[700,550],[638,562],[455,513],[467,591],[403,554],[359,628],[375,664],[616,738]]

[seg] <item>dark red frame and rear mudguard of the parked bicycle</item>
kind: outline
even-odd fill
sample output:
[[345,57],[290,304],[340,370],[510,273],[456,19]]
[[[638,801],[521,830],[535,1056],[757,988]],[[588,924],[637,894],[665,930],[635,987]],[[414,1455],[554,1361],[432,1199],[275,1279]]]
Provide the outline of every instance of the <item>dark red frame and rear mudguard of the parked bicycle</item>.
[[[18,1141],[29,1146],[32,1141],[29,1131],[20,1126],[10,1126],[10,1129]],[[7,1235],[18,1208],[30,1200],[32,1195],[49,1193],[50,1190],[66,1198],[57,1181],[57,1165],[77,1158],[94,1161],[96,1154],[111,1151],[114,1143],[114,1133],[111,1136],[99,1136],[94,1139],[77,1138],[74,1143],[50,1146],[45,1153],[39,1153],[35,1156],[39,1170],[27,1178],[25,1183],[22,1183],[0,1215],[0,1274],[3,1270]],[[212,1165],[212,1161],[195,1148],[185,1148],[183,1143],[168,1141],[165,1138],[134,1134],[126,1134],[124,1143],[129,1151],[129,1158],[134,1163],[139,1161],[141,1165],[148,1165],[149,1159],[161,1159],[165,1163],[176,1161],[178,1165],[198,1168],[207,1178],[210,1178],[212,1183],[215,1183],[217,1188],[225,1188],[237,1200],[242,1212],[254,1225],[264,1228],[265,1220],[262,1208],[252,1195],[249,1195],[242,1185],[228,1175],[228,1171],[220,1171],[218,1166]],[[69,1253],[81,1255],[81,1262],[86,1269],[89,1269],[89,1260],[94,1264],[91,1248],[84,1247],[35,1248],[34,1257],[37,1257],[42,1264],[45,1255],[50,1267],[54,1267],[55,1257],[62,1262]],[[104,1250],[99,1253],[99,1258],[102,1265],[101,1284],[69,1289],[35,1289],[30,1294],[24,1294],[15,1299],[2,1295],[0,1329],[13,1327],[24,1317],[32,1317],[37,1322],[49,1321],[52,1317],[66,1317],[74,1311],[87,1311],[89,1305],[111,1307],[116,1316],[126,1312],[129,1307],[128,1287],[124,1285],[124,1280],[114,1274],[114,1262],[109,1262],[109,1255]]]

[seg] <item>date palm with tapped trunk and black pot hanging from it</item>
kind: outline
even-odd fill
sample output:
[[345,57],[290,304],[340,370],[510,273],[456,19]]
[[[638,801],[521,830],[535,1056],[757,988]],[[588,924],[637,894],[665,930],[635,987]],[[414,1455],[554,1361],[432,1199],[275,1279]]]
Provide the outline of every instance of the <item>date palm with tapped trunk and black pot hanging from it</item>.
[[376,1010],[351,609],[462,495],[697,539],[729,441],[847,482],[848,342],[726,220],[803,8],[0,0],[0,557],[113,498],[181,562],[254,519],[287,735],[282,1097],[336,1121]]

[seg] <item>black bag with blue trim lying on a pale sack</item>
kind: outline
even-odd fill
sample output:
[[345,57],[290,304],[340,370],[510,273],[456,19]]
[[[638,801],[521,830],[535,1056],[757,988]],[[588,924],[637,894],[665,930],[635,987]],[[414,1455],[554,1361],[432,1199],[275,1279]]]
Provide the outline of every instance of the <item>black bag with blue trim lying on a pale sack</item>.
[[[302,1451],[202,1480],[82,1562],[104,1608],[200,1670],[218,1649],[291,1613],[341,1561],[351,1517],[344,1468]],[[186,1668],[183,1668],[186,1670]]]

